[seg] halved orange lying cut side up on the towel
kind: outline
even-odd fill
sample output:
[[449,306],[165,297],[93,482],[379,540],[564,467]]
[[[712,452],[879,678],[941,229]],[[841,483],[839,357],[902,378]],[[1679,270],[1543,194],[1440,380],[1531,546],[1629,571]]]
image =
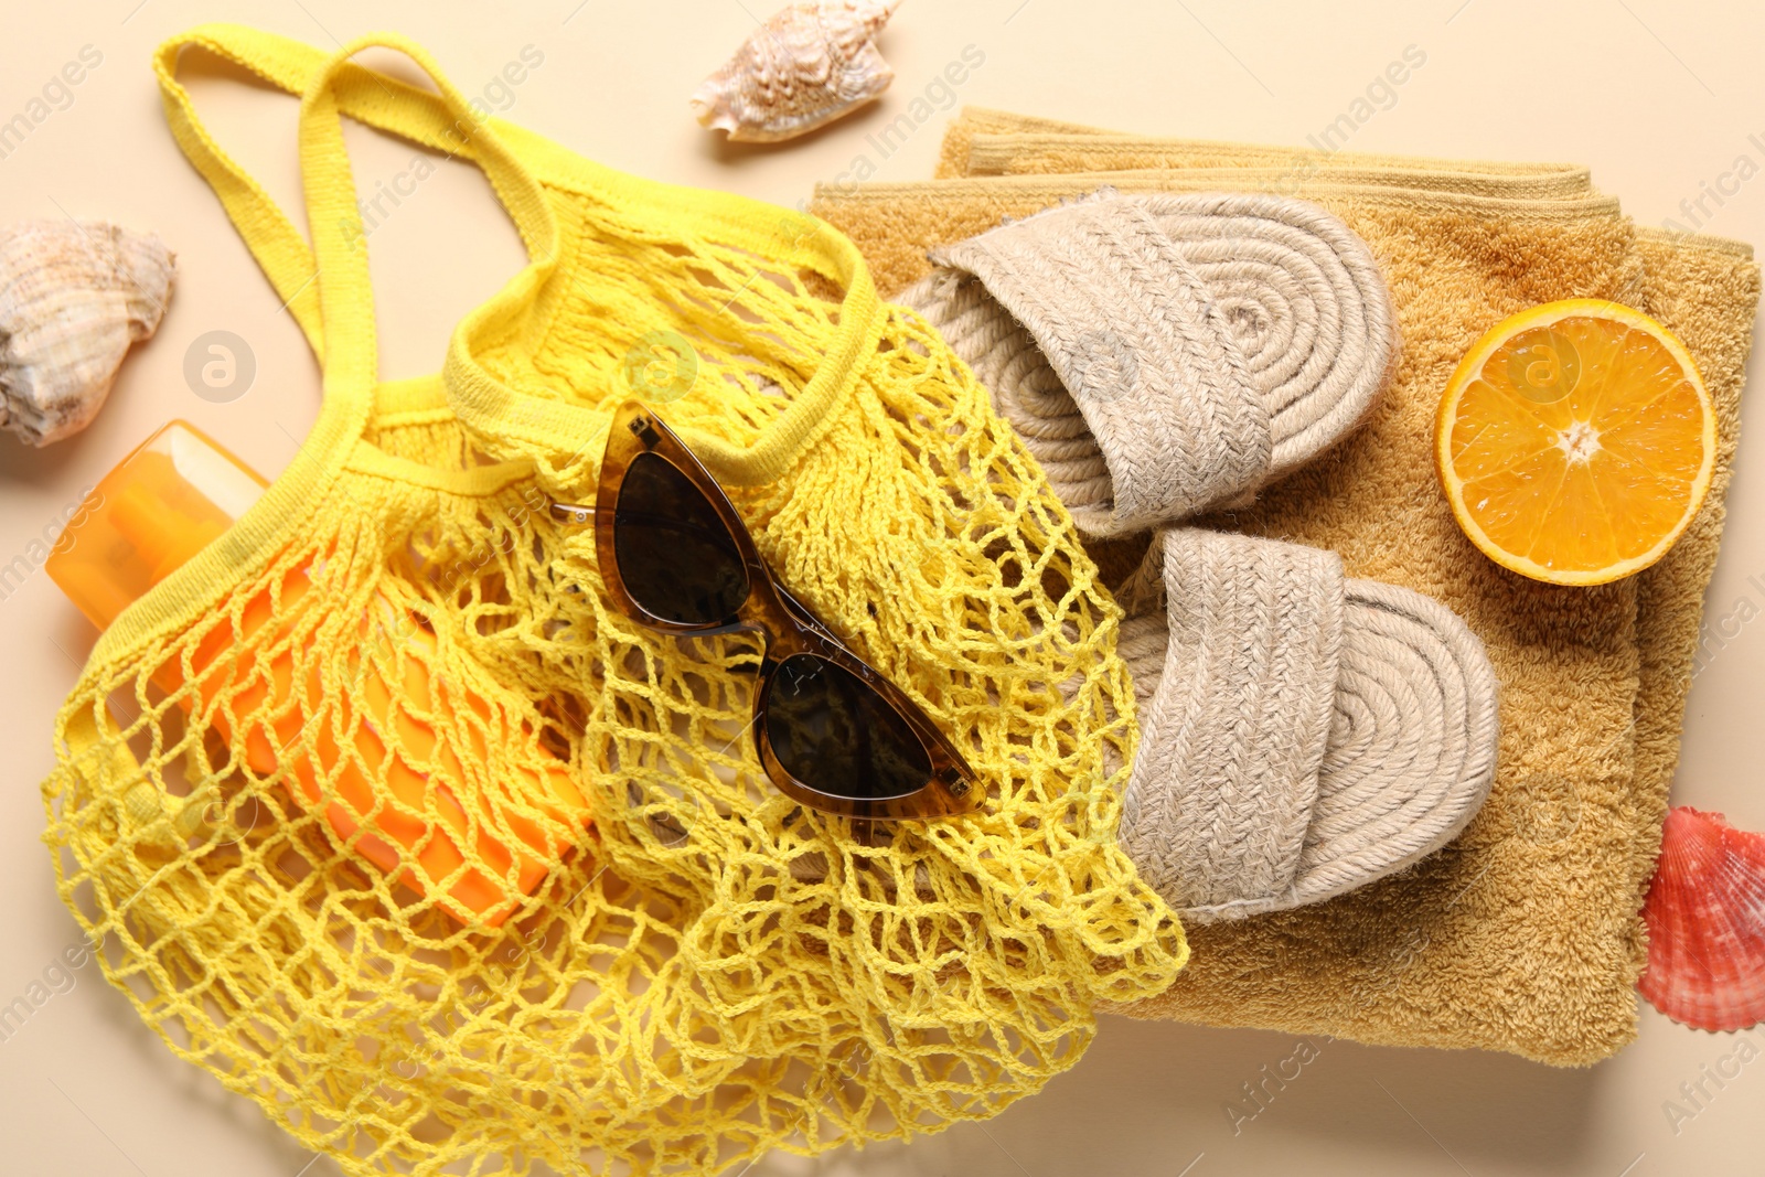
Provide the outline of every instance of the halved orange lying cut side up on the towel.
[[1647,314],[1550,302],[1460,360],[1435,466],[1484,556],[1536,581],[1604,584],[1661,559],[1698,514],[1716,413],[1686,346]]

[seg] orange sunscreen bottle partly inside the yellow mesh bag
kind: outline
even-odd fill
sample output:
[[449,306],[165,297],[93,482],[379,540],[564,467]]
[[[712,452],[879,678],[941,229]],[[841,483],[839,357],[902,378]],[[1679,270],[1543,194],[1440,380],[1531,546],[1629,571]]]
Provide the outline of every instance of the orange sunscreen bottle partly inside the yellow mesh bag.
[[[49,577],[94,625],[106,628],[132,600],[233,526],[265,485],[194,427],[171,422],[94,489],[85,519],[69,528],[48,559]],[[284,618],[298,612],[311,588],[307,568],[286,574]],[[436,637],[408,611],[383,596],[371,611],[381,616],[362,619],[362,646],[349,653],[357,690],[332,701],[342,709],[341,723],[334,723],[335,716],[311,722],[325,702],[318,669],[307,674],[305,690],[297,692],[289,626],[272,616],[268,591],[245,603],[237,637],[233,623],[221,623],[191,655],[194,692],[180,695],[184,674],[176,663],[161,667],[154,683],[178,695],[185,711],[229,743],[244,727],[251,769],[268,776],[282,768],[293,799],[305,808],[325,805],[330,828],[358,854],[434,896],[461,923],[498,926],[575,849],[590,824],[588,806],[568,766],[544,752],[514,759],[507,778],[477,791],[478,796],[459,796],[443,783],[485,780],[491,739],[533,748],[538,743],[531,727],[469,690],[448,690],[432,674]],[[265,633],[265,626],[277,628]],[[251,641],[251,648],[231,656],[240,641]],[[401,653],[364,658],[376,641],[397,642]],[[395,683],[379,671],[390,665],[401,667]],[[457,738],[438,734],[418,718],[459,708],[475,716],[461,725],[468,731],[466,746],[455,746]],[[349,715],[351,709],[360,715]],[[335,731],[355,732],[355,755],[341,753]],[[395,734],[395,748],[383,734]],[[406,757],[432,766],[432,776],[413,769]],[[478,771],[468,773],[462,761]],[[469,805],[478,806],[477,829]],[[531,817],[533,810],[551,821]],[[468,845],[471,854],[464,851]]]

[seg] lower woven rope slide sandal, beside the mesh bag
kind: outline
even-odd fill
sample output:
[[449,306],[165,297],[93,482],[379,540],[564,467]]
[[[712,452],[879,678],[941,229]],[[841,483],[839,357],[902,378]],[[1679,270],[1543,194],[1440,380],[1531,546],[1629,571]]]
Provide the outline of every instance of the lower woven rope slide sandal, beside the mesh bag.
[[1121,591],[1140,752],[1121,845],[1184,919],[1315,903],[1440,849],[1495,773],[1483,642],[1334,552],[1160,531]]

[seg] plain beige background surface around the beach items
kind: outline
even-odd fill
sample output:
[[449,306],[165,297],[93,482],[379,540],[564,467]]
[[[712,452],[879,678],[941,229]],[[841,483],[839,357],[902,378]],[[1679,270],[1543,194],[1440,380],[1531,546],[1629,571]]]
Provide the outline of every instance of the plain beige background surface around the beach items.
[[[90,431],[42,452],[0,438],[0,565],[169,416],[196,422],[274,475],[318,409],[316,367],[293,319],[279,312],[159,111],[148,55],[203,19],[327,48],[397,28],[468,94],[485,94],[533,46],[544,62],[519,86],[487,94],[510,118],[616,168],[782,203],[849,173],[858,155],[877,178],[930,175],[943,115],[888,157],[865,136],[971,44],[985,64],[960,86],[962,102],[1274,143],[1320,132],[1416,46],[1426,64],[1356,132],[1352,148],[1585,162],[1647,224],[1671,215],[1691,228],[1680,201],[1721,184],[1724,203],[1705,198],[1714,215],[1700,217],[1703,229],[1765,242],[1765,180],[1753,175],[1765,168],[1765,9],[1754,4],[1428,0],[1326,11],[1267,0],[909,0],[882,39],[898,79],[881,108],[785,148],[718,146],[692,124],[687,95],[771,2],[9,0],[0,122],[28,111],[83,46],[102,64],[72,88],[65,109],[0,157],[0,222],[74,215],[155,229],[178,252],[178,288],[159,335],[131,358]],[[293,101],[194,62],[189,76],[217,138],[298,210]],[[351,136],[351,148],[364,187],[411,168],[409,146],[369,132]],[[1742,155],[1751,166],[1739,168]],[[383,374],[438,367],[452,323],[519,263],[517,238],[475,171],[448,166],[427,178],[372,231]],[[184,378],[185,351],[210,330],[240,335],[256,356],[252,386],[229,402],[194,395]],[[1754,386],[1749,397],[1758,395]],[[1673,789],[1675,803],[1724,810],[1751,829],[1765,829],[1765,792],[1754,783],[1765,757],[1756,715],[1765,625],[1751,625],[1765,612],[1761,445],[1751,432],[1742,438],[1709,602],[1712,626],[1726,625],[1691,695]],[[23,995],[78,937],[39,842],[37,783],[51,762],[55,708],[92,639],[41,572],[0,600],[9,752],[0,769],[0,1004]],[[1650,1009],[1640,1041],[1588,1071],[1317,1041],[1318,1057],[1234,1135],[1225,1101],[1264,1064],[1287,1059],[1292,1038],[1107,1018],[1071,1073],[997,1121],[821,1161],[775,1156],[750,1173],[1758,1173],[1765,1061],[1746,1062],[1721,1089],[1705,1082],[1714,1098],[1700,1099],[1701,1110],[1679,1092],[1705,1068],[1731,1073],[1740,1041]],[[1765,1053],[1765,1032],[1751,1041],[1754,1050],[1740,1053]],[[1694,1115],[1671,1122],[1670,1099]],[[90,965],[0,1043],[0,1168],[42,1177],[335,1172],[254,1105],[176,1062]]]

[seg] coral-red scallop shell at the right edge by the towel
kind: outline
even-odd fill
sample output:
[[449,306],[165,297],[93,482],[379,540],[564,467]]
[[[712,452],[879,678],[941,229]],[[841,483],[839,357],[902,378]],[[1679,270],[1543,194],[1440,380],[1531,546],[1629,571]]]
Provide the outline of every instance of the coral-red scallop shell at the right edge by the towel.
[[1636,988],[1700,1031],[1765,1020],[1765,835],[1675,808],[1643,902],[1649,969]]

